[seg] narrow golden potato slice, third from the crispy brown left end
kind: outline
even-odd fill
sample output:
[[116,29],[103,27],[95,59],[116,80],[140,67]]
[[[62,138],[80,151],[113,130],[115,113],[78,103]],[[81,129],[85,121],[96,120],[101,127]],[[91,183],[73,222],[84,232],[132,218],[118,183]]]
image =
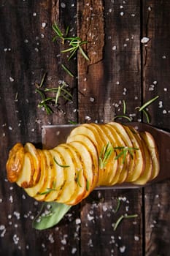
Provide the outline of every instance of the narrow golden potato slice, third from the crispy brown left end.
[[40,162],[40,156],[38,151],[36,150],[35,146],[32,143],[26,143],[24,146],[24,150],[26,152],[29,152],[31,154],[31,157],[34,162],[34,185],[39,181],[40,174],[41,174],[41,162]]

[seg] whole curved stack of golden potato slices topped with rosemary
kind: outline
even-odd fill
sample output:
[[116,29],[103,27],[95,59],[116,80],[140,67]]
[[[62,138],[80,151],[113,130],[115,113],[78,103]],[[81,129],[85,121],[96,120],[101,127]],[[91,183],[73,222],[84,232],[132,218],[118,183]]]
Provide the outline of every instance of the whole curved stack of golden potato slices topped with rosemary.
[[152,135],[117,122],[82,124],[66,143],[50,150],[17,143],[6,167],[8,180],[29,196],[68,205],[80,203],[99,186],[147,184],[160,169]]

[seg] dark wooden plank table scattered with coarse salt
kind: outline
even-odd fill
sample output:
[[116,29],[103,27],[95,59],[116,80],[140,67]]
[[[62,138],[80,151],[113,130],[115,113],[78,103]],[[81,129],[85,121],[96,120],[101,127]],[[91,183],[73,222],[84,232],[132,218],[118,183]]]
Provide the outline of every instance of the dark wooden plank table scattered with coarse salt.
[[[146,122],[135,108],[158,95],[149,107],[151,124],[169,129],[169,13],[168,0],[1,0],[0,255],[169,256],[169,180],[143,189],[94,191],[59,225],[38,231],[31,223],[40,203],[9,184],[5,170],[15,143],[41,143],[42,125],[112,121],[123,114],[123,100],[127,116]],[[66,46],[53,42],[55,21],[88,41],[90,61],[80,54],[68,61],[61,53]],[[59,99],[50,115],[37,107],[41,97],[35,93],[45,73],[43,88],[64,80],[73,97]],[[124,219],[114,231],[122,214],[138,217]]]

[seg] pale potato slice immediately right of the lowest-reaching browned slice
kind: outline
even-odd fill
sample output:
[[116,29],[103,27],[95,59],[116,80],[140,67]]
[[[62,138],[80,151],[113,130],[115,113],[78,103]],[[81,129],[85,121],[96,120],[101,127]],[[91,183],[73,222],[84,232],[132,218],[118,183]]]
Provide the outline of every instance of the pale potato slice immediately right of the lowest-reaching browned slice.
[[93,159],[91,158],[88,149],[83,143],[81,143],[81,141],[72,141],[70,145],[74,147],[80,155],[80,161],[83,167],[83,175],[86,182],[86,192],[85,196],[83,197],[85,198],[90,194],[93,187]]

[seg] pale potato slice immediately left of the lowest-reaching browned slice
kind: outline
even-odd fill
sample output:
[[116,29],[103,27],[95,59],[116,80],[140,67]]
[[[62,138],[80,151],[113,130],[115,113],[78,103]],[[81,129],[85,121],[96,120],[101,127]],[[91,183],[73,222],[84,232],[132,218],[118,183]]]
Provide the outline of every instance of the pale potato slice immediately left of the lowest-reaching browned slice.
[[65,176],[65,182],[61,188],[61,194],[57,197],[58,203],[66,203],[72,197],[77,187],[75,182],[75,167],[72,160],[72,154],[64,147],[64,144],[58,145],[57,151],[62,155],[64,159],[63,172]]

